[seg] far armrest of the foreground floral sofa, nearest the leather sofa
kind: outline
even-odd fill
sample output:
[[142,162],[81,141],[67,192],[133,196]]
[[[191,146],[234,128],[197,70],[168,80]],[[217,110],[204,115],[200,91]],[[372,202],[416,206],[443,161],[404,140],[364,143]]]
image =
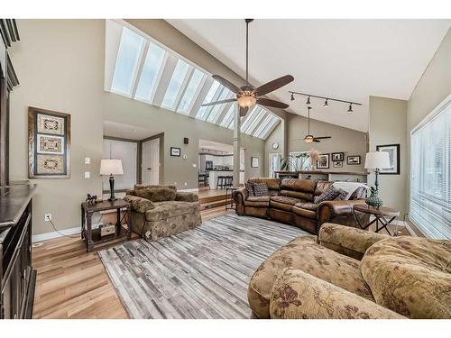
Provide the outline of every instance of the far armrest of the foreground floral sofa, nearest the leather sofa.
[[318,233],[321,245],[356,260],[362,260],[370,246],[385,238],[390,236],[331,223],[323,224]]

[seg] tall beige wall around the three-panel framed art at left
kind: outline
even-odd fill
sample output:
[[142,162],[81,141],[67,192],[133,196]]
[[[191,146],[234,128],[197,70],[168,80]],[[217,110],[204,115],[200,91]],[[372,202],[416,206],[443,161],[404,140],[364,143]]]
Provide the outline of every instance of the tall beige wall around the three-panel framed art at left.
[[[10,55],[20,81],[11,96],[11,180],[28,178],[29,106],[71,114],[71,176],[33,179],[33,233],[52,232],[44,223],[51,213],[58,228],[79,224],[80,201],[101,195],[104,35],[103,20],[19,20],[21,41]],[[91,164],[85,165],[85,157]],[[91,178],[84,178],[91,171]]]

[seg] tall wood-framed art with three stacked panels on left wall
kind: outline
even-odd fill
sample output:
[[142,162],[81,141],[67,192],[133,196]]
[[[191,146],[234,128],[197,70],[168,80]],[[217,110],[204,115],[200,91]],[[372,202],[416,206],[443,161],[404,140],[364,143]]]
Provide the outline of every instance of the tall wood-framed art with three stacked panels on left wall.
[[28,177],[70,178],[70,114],[28,108]]

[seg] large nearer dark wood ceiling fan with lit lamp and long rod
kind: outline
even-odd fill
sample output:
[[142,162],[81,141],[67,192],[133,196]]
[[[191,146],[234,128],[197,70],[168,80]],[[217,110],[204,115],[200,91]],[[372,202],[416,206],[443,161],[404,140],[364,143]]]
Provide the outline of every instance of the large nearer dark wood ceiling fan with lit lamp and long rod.
[[246,85],[243,87],[237,87],[226,78],[223,78],[219,75],[213,75],[212,78],[216,79],[224,87],[228,88],[230,91],[235,93],[236,97],[228,98],[226,100],[210,102],[207,104],[203,104],[202,106],[207,105],[222,105],[228,102],[238,101],[238,105],[240,107],[240,115],[244,116],[247,114],[249,108],[253,105],[265,105],[271,106],[275,108],[288,108],[289,105],[284,104],[279,101],[271,100],[269,98],[261,97],[272,91],[279,89],[285,85],[288,85],[294,78],[291,75],[286,75],[281,78],[276,78],[260,87],[253,87],[249,84],[249,23],[253,22],[253,19],[245,19],[246,22]]

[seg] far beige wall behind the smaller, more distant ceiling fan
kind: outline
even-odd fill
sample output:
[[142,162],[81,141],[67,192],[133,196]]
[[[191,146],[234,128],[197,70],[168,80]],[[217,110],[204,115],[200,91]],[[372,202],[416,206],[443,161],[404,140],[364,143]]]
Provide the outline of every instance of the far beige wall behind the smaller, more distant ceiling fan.
[[[332,139],[319,143],[306,143],[304,136],[307,134],[307,117],[290,114],[287,121],[288,129],[288,151],[310,151],[312,148],[320,153],[345,152],[343,168],[333,168],[330,160],[330,171],[364,171],[364,156],[366,154],[366,133],[357,132],[353,129],[340,127],[335,124],[325,123],[310,119],[310,132],[315,136],[331,136]],[[346,156],[360,155],[361,165],[346,164]]]

